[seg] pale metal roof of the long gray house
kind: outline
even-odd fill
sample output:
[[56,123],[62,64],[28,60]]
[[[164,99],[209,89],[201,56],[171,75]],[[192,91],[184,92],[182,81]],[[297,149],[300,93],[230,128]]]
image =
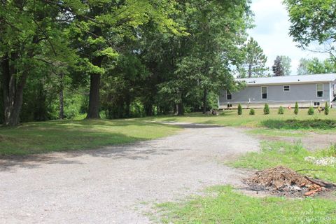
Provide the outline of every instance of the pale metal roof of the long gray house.
[[260,78],[237,78],[237,81],[245,81],[246,85],[276,85],[299,83],[328,83],[336,80],[336,73],[306,75],[306,76],[274,76]]

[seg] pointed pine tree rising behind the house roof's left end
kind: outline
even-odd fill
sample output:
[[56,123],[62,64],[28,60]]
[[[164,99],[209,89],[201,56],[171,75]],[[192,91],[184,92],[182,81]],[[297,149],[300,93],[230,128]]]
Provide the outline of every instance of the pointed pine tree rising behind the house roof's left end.
[[244,63],[239,68],[239,76],[241,78],[251,78],[252,76],[264,76],[268,68],[265,66],[267,57],[257,41],[252,37],[242,48],[244,50]]

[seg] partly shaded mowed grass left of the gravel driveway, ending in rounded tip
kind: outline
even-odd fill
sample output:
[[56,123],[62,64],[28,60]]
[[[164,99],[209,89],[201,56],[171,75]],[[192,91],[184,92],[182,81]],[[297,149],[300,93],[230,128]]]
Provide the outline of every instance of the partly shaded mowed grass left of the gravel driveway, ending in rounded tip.
[[24,123],[19,127],[0,127],[0,155],[94,149],[166,137],[178,130],[173,125],[139,119]]

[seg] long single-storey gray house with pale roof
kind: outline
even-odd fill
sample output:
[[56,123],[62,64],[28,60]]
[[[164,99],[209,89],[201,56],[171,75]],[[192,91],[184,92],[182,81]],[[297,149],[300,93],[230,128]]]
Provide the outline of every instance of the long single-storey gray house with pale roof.
[[221,90],[219,109],[262,108],[265,103],[270,107],[300,107],[331,105],[335,98],[336,73],[307,76],[276,76],[262,78],[240,78],[246,87],[239,92]]

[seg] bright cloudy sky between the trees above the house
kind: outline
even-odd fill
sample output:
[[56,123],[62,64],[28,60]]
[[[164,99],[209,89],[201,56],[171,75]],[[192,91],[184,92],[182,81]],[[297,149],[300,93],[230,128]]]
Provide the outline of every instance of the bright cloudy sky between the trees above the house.
[[290,22],[282,0],[252,0],[251,10],[255,14],[255,27],[248,31],[248,34],[258,41],[264,50],[270,69],[276,55],[286,55],[292,59],[291,75],[297,74],[297,66],[302,57],[319,59],[328,57],[327,54],[297,48],[297,43],[293,42],[293,38],[288,34]]

